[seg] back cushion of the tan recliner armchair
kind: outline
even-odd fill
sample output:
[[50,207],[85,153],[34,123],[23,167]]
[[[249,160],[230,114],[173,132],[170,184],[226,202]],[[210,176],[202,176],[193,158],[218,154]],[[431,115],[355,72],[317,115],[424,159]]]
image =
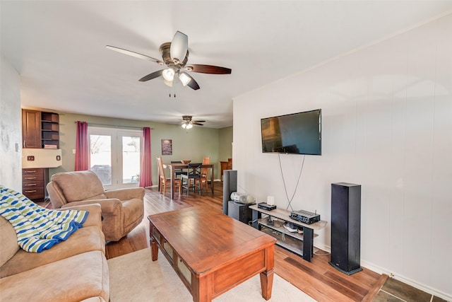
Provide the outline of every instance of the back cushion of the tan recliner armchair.
[[64,172],[52,175],[52,181],[57,182],[63,191],[66,202],[76,202],[104,193],[104,187],[97,175],[90,170]]

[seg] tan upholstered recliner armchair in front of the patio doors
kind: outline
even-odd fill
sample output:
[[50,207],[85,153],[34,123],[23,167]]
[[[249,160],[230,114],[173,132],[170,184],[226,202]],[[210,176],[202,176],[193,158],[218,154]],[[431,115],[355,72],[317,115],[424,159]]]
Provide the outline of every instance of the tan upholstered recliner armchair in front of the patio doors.
[[117,241],[133,230],[144,216],[142,187],[104,190],[90,170],[56,173],[47,184],[54,209],[83,204],[100,204],[105,240]]

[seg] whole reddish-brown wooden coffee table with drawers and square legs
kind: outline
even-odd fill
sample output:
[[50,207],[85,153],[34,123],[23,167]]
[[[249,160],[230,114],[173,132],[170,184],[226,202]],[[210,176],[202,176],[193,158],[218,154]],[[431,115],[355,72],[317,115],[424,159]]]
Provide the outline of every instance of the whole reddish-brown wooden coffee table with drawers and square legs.
[[148,220],[153,261],[160,248],[193,301],[212,301],[256,274],[263,298],[271,298],[272,236],[208,208],[168,211]]

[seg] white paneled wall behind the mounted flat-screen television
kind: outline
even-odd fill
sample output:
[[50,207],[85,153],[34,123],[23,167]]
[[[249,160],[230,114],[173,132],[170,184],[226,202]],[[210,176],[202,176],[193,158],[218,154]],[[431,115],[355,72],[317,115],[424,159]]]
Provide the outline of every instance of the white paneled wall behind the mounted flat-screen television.
[[[260,120],[322,109],[293,209],[331,244],[331,183],[362,185],[362,266],[452,300],[452,15],[234,99],[238,185],[286,208],[303,156],[261,153]],[[288,197],[286,197],[288,196]]]

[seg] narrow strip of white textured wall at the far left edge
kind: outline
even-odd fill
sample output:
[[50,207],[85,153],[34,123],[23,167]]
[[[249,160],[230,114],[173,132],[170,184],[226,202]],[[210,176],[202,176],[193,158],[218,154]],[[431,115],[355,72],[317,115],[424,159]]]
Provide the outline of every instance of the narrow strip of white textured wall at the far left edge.
[[22,192],[20,78],[3,57],[0,69],[0,185]]

